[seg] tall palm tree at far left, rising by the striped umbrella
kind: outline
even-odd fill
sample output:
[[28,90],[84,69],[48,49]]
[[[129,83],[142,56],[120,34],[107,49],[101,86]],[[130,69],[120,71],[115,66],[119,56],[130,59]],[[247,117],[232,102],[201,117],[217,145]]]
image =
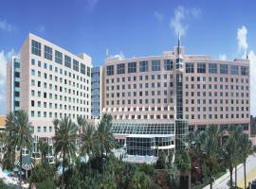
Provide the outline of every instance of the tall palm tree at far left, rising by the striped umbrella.
[[20,150],[20,171],[19,179],[21,185],[21,169],[22,169],[22,150],[24,148],[31,150],[33,144],[31,123],[28,120],[27,112],[20,110],[15,113],[14,125],[11,128],[13,137],[13,146],[18,146]]

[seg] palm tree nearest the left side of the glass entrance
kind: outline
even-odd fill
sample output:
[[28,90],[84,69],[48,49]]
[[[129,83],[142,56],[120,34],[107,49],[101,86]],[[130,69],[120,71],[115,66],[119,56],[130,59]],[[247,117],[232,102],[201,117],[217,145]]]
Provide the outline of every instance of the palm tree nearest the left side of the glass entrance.
[[115,146],[115,138],[111,130],[112,116],[110,114],[103,114],[101,123],[99,124],[96,140],[98,142],[101,155],[105,153],[106,157],[110,150]]

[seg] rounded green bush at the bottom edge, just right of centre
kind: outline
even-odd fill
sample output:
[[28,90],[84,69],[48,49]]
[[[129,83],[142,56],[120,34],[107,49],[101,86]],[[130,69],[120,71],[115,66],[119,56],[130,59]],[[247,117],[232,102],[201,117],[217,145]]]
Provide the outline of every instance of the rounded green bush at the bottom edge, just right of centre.
[[148,189],[151,186],[151,179],[144,172],[136,171],[132,180],[132,188]]

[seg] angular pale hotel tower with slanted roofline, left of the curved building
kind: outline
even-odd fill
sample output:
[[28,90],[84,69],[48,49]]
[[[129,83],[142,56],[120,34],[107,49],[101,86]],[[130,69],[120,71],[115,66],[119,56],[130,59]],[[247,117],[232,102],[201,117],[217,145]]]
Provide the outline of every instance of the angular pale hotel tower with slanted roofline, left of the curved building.
[[88,55],[74,55],[29,33],[7,66],[7,112],[28,112],[34,142],[40,137],[52,144],[53,119],[91,118],[91,67]]

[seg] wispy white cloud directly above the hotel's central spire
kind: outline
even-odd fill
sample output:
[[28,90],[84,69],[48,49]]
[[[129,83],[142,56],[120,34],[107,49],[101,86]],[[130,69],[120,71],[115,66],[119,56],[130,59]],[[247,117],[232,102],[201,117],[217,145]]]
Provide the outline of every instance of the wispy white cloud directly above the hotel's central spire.
[[183,6],[179,6],[174,9],[174,17],[171,19],[170,27],[174,29],[176,35],[184,36],[189,28],[188,21],[199,17],[200,14],[200,9],[186,9]]

